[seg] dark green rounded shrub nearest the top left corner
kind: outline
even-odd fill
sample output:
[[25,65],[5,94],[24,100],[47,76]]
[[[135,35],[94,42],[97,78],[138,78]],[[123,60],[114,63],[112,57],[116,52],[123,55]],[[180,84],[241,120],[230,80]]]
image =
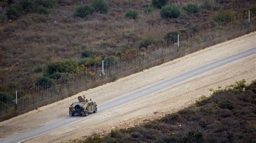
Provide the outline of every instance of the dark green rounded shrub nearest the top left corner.
[[10,8],[7,11],[7,16],[10,19],[16,19],[16,18],[20,17],[23,12],[24,12],[23,6],[19,3],[16,3],[16,4],[12,4],[10,6]]

